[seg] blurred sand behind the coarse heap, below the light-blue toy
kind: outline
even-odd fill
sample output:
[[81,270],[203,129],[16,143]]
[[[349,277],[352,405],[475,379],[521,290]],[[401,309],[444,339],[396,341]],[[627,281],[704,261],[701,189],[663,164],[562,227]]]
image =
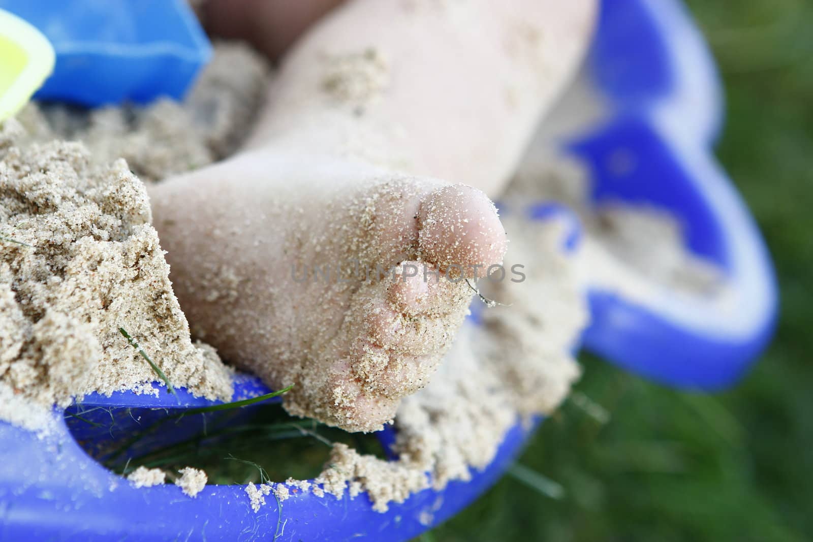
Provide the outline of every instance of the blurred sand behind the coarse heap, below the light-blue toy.
[[33,102],[17,116],[28,142],[81,141],[93,163],[124,158],[144,182],[206,166],[233,154],[264,100],[267,62],[248,47],[216,42],[211,63],[183,102],[85,111]]

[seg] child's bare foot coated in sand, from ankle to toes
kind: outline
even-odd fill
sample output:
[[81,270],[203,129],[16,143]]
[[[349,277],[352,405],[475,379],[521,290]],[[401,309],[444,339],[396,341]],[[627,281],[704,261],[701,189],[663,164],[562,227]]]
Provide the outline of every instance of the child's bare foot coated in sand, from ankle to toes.
[[476,189],[313,156],[242,154],[150,196],[193,332],[351,431],[427,383],[472,298],[459,271],[506,249]]

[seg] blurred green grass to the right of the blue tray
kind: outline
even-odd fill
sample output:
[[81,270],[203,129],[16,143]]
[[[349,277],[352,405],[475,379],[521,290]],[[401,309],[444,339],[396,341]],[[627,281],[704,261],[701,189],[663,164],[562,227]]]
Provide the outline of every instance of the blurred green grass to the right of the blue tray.
[[720,62],[728,121],[718,155],[775,258],[776,340],[714,397],[647,383],[584,356],[572,401],[520,464],[551,498],[506,476],[421,540],[813,539],[813,2],[692,0]]

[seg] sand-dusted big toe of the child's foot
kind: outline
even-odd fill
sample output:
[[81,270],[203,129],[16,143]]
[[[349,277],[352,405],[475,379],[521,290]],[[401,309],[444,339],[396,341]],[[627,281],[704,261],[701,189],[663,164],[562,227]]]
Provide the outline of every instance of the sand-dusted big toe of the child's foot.
[[[420,254],[448,272],[502,263],[508,241],[497,208],[480,190],[464,184],[437,189],[421,202]],[[485,275],[480,271],[480,276]]]

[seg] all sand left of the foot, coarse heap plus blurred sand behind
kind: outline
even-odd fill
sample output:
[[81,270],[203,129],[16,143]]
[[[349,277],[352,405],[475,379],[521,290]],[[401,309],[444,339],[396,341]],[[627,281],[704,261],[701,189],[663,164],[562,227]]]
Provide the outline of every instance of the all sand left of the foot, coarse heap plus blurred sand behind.
[[231,371],[189,338],[137,176],[160,180],[231,154],[269,76],[258,54],[220,43],[183,103],[33,102],[2,125],[0,394],[15,401],[2,401],[0,419],[43,431],[50,405],[89,392],[158,393],[163,383],[120,327],[173,386],[232,396]]

